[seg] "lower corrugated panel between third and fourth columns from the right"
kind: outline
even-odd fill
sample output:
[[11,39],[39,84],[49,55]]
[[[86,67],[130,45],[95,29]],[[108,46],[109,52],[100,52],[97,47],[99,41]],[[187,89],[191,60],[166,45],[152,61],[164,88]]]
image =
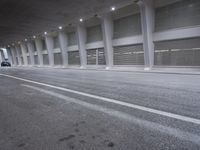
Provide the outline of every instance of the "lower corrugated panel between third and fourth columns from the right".
[[80,65],[79,51],[68,52],[69,65]]

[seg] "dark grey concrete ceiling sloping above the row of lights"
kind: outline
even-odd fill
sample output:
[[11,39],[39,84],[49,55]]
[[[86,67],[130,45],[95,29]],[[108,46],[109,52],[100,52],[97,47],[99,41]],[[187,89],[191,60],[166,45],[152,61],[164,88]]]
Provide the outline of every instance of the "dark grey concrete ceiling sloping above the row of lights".
[[133,0],[1,0],[0,45],[76,23],[80,17],[107,12],[111,6],[130,3]]

